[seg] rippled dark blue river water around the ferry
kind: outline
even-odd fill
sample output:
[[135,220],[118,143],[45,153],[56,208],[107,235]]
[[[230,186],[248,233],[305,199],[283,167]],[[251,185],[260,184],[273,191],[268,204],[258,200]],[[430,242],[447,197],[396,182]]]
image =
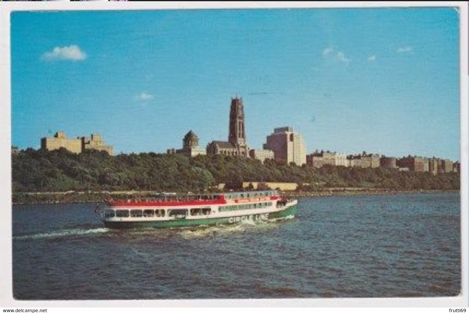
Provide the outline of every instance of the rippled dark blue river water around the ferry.
[[92,204],[15,205],[16,299],[455,296],[459,193],[311,197],[295,219],[110,230]]

